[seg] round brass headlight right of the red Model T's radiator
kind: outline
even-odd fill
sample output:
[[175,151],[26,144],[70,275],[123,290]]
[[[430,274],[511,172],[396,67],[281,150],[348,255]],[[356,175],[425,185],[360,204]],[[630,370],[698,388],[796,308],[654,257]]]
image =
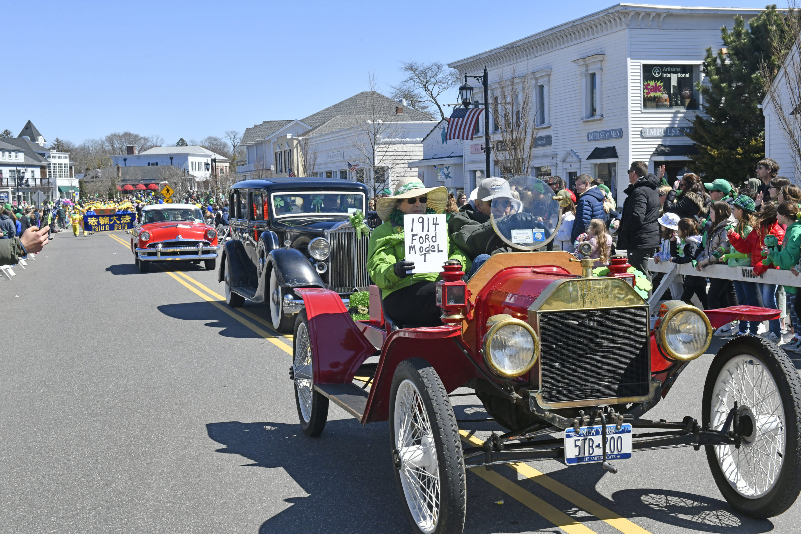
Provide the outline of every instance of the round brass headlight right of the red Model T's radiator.
[[[675,304],[674,304],[675,303]],[[680,301],[663,303],[667,311],[660,319],[658,342],[670,358],[680,362],[696,359],[712,342],[714,328],[706,314]]]

